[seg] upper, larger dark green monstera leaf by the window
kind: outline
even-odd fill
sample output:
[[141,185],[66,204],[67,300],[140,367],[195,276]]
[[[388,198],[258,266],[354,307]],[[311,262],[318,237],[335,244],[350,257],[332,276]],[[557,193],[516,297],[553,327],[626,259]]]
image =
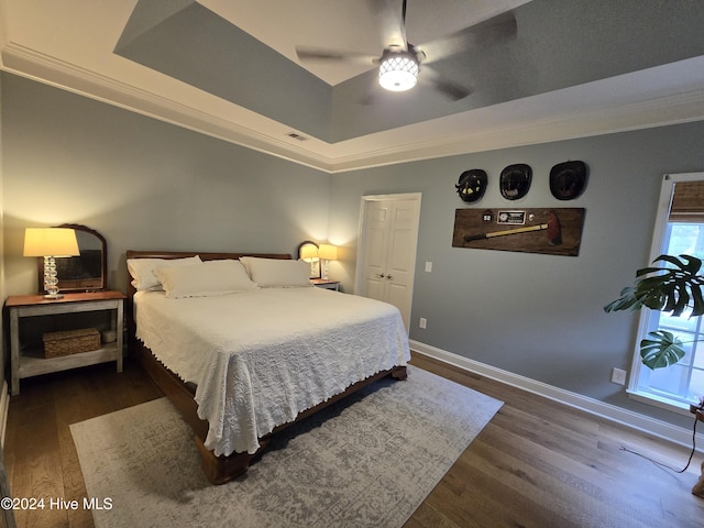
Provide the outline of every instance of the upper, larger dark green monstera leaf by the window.
[[704,276],[697,275],[702,261],[691,255],[660,255],[653,264],[657,262],[666,262],[670,266],[638,270],[634,286],[624,288],[620,297],[606,305],[604,310],[639,310],[645,306],[674,317],[689,309],[692,310],[690,317],[703,315]]

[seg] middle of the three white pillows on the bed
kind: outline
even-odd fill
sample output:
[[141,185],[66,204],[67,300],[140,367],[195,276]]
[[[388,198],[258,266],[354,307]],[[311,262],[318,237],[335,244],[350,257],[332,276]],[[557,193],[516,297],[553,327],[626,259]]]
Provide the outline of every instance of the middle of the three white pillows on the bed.
[[206,261],[194,266],[157,267],[154,275],[166,297],[211,297],[256,289],[242,263],[232,260]]

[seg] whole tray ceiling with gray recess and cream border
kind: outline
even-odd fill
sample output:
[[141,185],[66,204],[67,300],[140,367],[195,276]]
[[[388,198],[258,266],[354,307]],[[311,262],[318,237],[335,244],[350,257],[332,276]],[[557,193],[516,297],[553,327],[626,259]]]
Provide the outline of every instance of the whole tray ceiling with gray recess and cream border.
[[663,16],[659,3],[409,0],[415,43],[513,10],[516,38],[433,64],[472,86],[460,101],[383,92],[373,65],[298,63],[296,45],[381,54],[363,1],[0,0],[0,56],[7,72],[342,172],[704,119],[704,7],[672,1]]

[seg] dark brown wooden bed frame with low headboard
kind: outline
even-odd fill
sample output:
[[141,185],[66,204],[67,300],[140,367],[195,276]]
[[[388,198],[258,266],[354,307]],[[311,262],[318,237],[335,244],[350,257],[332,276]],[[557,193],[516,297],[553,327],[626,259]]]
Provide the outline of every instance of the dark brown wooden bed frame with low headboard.
[[[127,258],[183,258],[186,256],[199,255],[204,261],[219,260],[219,258],[239,258],[240,256],[258,256],[266,258],[290,258],[288,254],[261,254],[261,253],[206,253],[206,252],[173,252],[173,251],[134,251],[129,250],[127,252]],[[243,473],[250,466],[250,463],[255,457],[258,457],[265,449],[273,435],[285,429],[286,427],[295,424],[318,410],[338,402],[339,399],[355,393],[360,388],[382,380],[386,376],[391,376],[396,380],[406,380],[407,373],[405,366],[395,366],[388,371],[382,371],[373,376],[367,377],[354,385],[349,386],[343,393],[333,396],[332,398],[311,407],[300,413],[296,419],[289,424],[285,424],[276,427],[271,433],[263,438],[260,438],[260,449],[254,454],[249,453],[232,453],[228,457],[217,457],[211,450],[205,447],[204,442],[208,435],[208,421],[198,417],[198,406],[194,399],[196,394],[196,386],[194,384],[184,383],[176,374],[166,369],[160,361],[157,361],[152,352],[144,346],[135,337],[135,321],[133,317],[133,302],[132,297],[135,294],[135,289],[131,284],[131,277],[128,273],[128,307],[125,310],[128,321],[128,343],[130,353],[133,354],[142,367],[147,372],[154,383],[161,388],[166,397],[172,402],[174,407],[180,413],[184,420],[191,427],[196,446],[200,452],[202,460],[202,469],[206,477],[212,484],[224,484],[226,482],[235,479]]]

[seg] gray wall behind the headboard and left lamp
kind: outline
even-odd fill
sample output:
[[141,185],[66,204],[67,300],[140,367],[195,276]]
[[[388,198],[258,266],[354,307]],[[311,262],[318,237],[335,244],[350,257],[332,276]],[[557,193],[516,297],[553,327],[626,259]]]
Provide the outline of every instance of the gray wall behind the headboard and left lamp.
[[7,295],[36,289],[24,228],[82,223],[108,242],[124,289],[128,249],[294,253],[324,240],[320,172],[3,74]]

